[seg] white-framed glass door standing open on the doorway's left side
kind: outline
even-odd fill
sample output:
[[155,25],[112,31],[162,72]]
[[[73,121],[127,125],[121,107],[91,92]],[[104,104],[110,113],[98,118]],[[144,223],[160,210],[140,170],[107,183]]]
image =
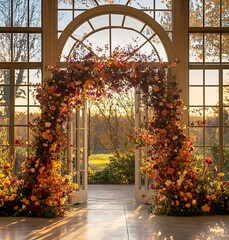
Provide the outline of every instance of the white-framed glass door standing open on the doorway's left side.
[[73,116],[68,126],[68,172],[76,173],[73,182],[79,185],[74,192],[71,204],[87,200],[87,170],[88,170],[88,117],[87,103],[84,107],[73,110]]

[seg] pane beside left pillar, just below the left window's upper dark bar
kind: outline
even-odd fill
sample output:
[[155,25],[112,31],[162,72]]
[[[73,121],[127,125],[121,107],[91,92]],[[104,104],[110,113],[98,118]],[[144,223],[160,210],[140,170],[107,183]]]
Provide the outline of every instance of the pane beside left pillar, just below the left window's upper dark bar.
[[41,34],[29,34],[29,61],[41,62]]

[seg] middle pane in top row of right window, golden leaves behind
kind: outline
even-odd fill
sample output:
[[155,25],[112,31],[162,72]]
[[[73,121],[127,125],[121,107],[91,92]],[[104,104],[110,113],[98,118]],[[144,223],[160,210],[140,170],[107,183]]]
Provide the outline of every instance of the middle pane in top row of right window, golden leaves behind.
[[205,27],[220,26],[220,0],[205,0]]

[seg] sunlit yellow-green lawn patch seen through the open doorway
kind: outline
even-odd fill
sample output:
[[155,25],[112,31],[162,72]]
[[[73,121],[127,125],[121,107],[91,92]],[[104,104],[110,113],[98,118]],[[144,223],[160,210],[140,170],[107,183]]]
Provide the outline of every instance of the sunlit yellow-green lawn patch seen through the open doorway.
[[92,154],[88,159],[89,167],[95,172],[101,171],[110,162],[112,156],[112,154]]

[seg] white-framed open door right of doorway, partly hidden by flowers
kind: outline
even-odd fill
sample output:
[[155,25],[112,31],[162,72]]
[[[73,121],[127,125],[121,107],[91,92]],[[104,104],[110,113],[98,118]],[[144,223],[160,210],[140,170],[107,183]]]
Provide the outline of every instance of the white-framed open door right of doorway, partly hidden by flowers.
[[[135,89],[135,128],[138,133],[141,127],[150,120],[152,112],[150,108],[143,104],[144,94],[139,88]],[[152,180],[140,172],[141,160],[146,158],[147,148],[135,149],[135,199],[140,202],[150,202],[154,191],[150,188]]]

